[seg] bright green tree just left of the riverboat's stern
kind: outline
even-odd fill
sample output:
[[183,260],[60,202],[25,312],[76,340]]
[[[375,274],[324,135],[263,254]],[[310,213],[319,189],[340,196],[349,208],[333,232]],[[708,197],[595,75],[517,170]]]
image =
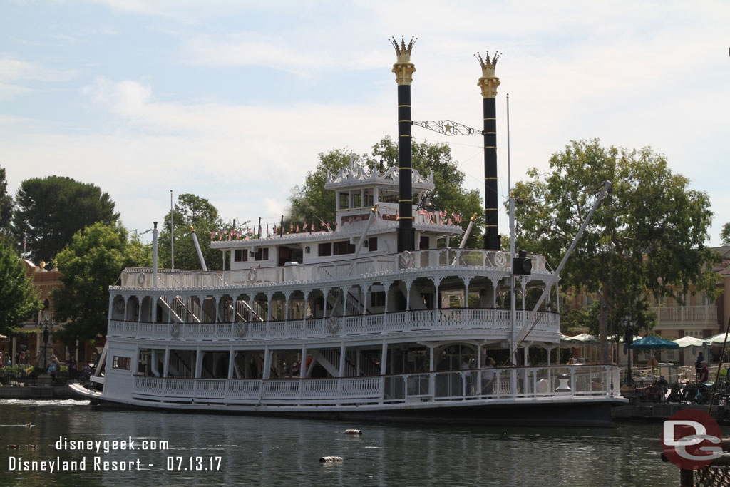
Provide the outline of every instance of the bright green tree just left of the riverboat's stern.
[[58,335],[63,342],[90,340],[107,329],[109,286],[126,266],[151,266],[152,249],[128,239],[120,223],[94,223],[72,237],[58,253],[60,288],[51,294],[58,322],[68,321]]

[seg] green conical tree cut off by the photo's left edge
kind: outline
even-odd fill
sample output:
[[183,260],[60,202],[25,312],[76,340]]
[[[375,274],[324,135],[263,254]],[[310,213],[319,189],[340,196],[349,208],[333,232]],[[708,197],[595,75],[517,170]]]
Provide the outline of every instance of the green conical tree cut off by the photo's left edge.
[[0,334],[12,333],[42,307],[23,262],[15,250],[0,239]]

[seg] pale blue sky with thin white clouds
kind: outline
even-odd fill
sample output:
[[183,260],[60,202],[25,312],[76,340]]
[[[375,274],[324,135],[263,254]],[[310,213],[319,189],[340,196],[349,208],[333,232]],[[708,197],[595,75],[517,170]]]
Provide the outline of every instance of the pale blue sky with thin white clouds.
[[[481,127],[474,54],[496,74],[499,201],[571,140],[650,146],[730,222],[728,1],[2,0],[0,166],[15,194],[60,175],[110,193],[128,229],[170,191],[227,221],[279,221],[318,153],[396,139],[396,55],[418,37],[413,120]],[[482,140],[448,142],[483,194]],[[502,204],[500,204],[502,207]],[[500,233],[509,232],[499,217]]]

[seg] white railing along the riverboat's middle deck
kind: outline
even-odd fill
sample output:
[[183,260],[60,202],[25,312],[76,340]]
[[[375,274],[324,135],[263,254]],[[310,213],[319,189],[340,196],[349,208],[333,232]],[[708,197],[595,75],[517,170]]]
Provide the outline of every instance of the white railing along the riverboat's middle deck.
[[[517,323],[526,323],[530,312],[518,311]],[[345,316],[309,320],[259,321],[253,323],[145,323],[110,320],[110,337],[142,340],[301,340],[307,338],[348,337],[404,331],[483,331],[484,338],[507,340],[511,332],[510,312],[452,308],[391,312],[382,315]],[[538,312],[533,333],[557,334],[560,317]]]

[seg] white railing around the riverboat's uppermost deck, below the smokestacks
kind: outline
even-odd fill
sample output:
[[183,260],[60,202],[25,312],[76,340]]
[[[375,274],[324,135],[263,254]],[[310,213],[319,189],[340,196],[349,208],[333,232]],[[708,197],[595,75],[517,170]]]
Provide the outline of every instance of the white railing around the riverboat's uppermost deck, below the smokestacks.
[[[434,269],[458,267],[483,267],[510,271],[508,258],[497,257],[494,250],[431,249],[415,250],[409,259],[400,254],[345,259],[320,264],[262,267],[228,271],[186,271],[158,269],[158,288],[200,288],[221,285],[285,283],[292,281],[322,281],[338,277],[352,277],[377,272],[397,272],[409,269]],[[506,257],[506,254],[504,254]],[[545,257],[530,255],[532,272],[545,272]],[[500,265],[502,264],[502,265]],[[121,276],[122,287],[152,288],[152,269],[126,267]]]

